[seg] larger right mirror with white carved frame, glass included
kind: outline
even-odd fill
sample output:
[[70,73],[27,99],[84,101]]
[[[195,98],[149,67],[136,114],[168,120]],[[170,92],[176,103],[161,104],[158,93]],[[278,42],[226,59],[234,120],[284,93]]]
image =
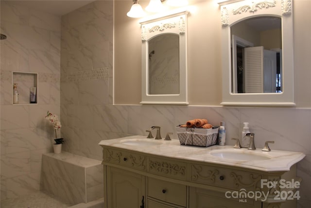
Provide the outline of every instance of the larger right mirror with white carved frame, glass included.
[[292,3],[221,5],[222,105],[295,105]]

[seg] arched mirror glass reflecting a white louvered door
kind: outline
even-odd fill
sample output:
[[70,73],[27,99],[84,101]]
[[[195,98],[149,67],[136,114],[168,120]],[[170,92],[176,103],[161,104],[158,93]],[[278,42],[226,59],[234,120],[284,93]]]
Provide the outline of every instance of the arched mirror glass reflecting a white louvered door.
[[244,19],[230,27],[230,37],[231,93],[281,93],[281,18]]

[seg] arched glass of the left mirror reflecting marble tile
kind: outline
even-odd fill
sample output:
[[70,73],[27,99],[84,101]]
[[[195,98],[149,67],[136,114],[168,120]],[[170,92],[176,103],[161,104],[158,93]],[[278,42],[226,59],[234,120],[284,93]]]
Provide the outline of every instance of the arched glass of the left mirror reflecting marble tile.
[[179,94],[179,35],[163,34],[150,39],[148,57],[148,94]]

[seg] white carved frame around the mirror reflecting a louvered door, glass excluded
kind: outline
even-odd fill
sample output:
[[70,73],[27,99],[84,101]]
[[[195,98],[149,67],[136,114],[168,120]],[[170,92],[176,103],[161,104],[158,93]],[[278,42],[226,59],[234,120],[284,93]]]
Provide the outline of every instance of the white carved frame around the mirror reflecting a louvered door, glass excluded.
[[[255,2],[254,2],[255,1]],[[294,106],[293,0],[244,0],[221,5],[222,105]],[[232,93],[230,26],[244,19],[276,16],[282,19],[282,93]]]

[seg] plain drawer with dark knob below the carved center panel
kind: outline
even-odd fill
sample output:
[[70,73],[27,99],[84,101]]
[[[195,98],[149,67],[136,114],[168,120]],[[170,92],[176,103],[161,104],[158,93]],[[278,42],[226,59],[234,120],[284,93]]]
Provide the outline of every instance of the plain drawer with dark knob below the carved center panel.
[[175,205],[187,206],[187,187],[154,178],[148,178],[147,194],[149,197],[172,203]]

